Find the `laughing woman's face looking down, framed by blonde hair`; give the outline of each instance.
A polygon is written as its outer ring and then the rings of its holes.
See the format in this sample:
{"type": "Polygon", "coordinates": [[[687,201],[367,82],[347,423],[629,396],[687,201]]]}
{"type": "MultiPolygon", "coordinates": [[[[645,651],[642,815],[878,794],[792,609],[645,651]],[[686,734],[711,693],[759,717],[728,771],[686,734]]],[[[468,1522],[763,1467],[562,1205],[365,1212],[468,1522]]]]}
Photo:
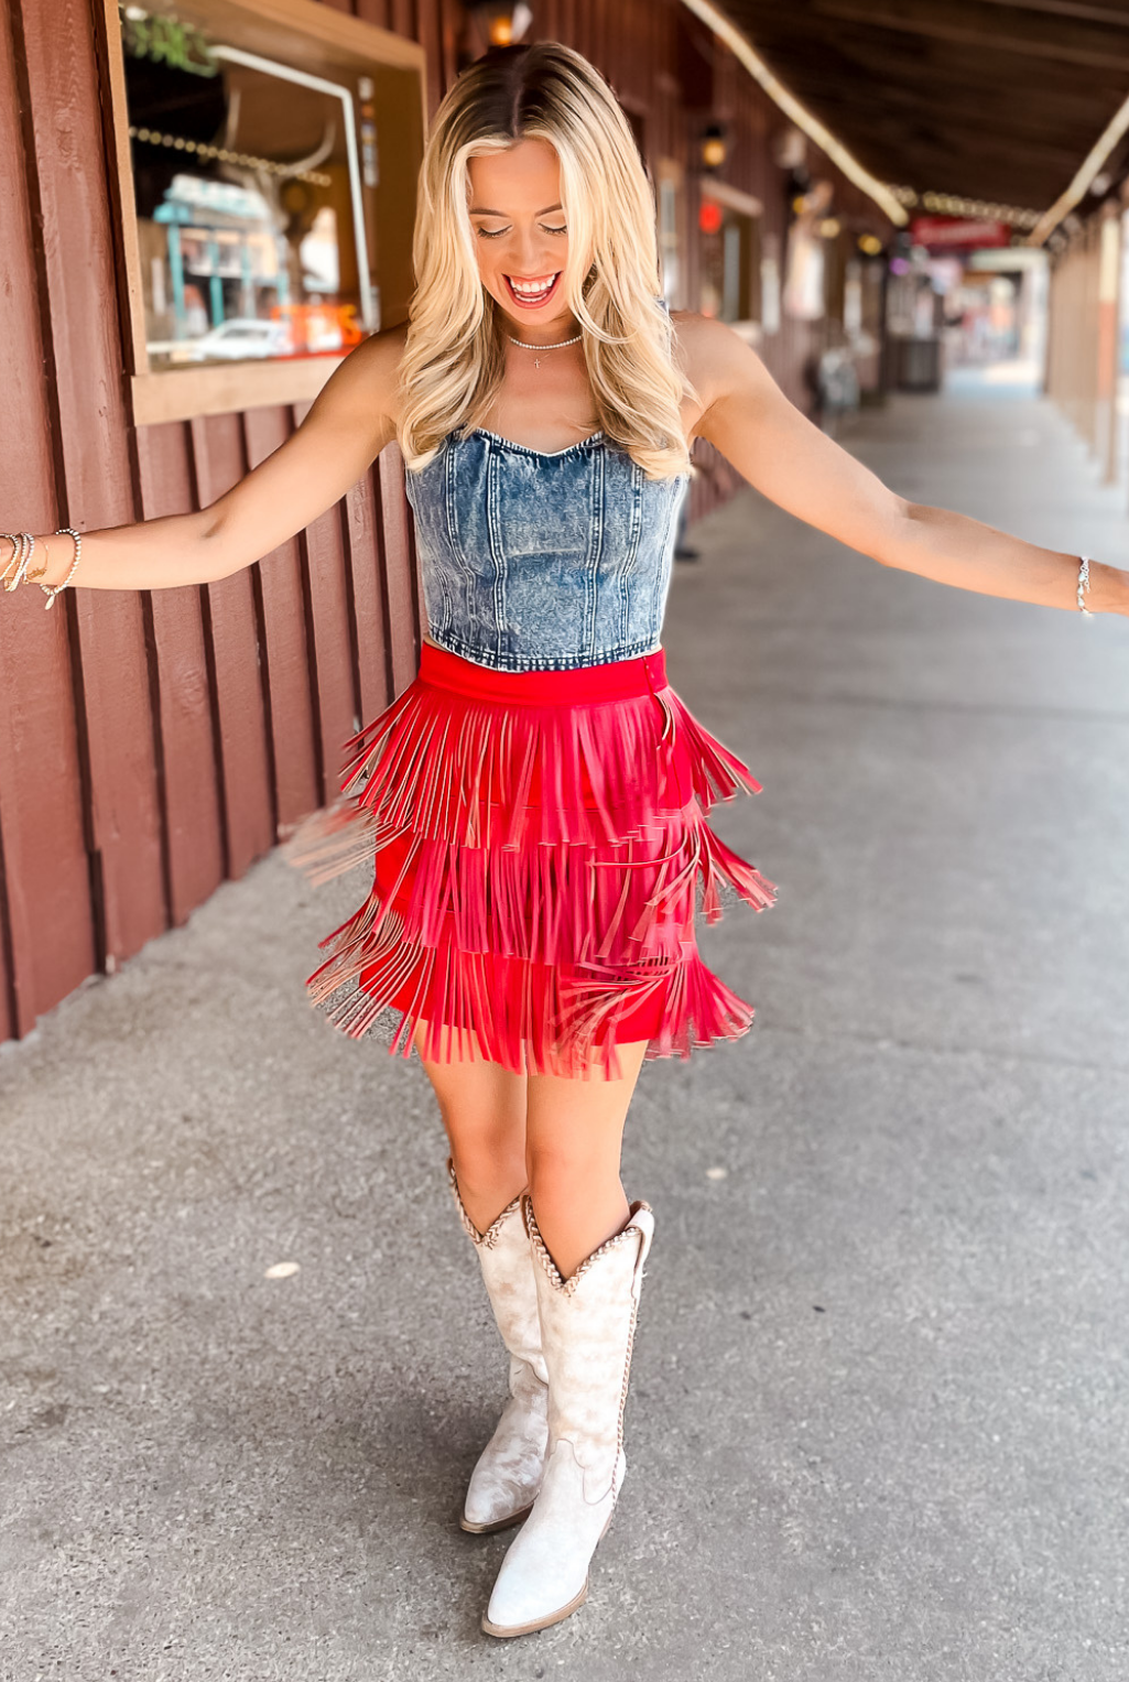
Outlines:
{"type": "Polygon", "coordinates": [[[547,140],[517,140],[468,163],[469,219],[483,286],[520,338],[567,338],[574,316],[560,296],[569,230],[560,160],[547,140]]]}

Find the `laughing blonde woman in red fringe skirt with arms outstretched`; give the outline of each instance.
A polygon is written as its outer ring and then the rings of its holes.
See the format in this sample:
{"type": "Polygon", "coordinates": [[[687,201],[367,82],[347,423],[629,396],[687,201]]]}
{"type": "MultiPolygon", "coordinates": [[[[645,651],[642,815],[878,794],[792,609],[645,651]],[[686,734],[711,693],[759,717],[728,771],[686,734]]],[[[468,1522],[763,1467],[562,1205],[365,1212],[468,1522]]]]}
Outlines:
{"type": "Polygon", "coordinates": [[[602,76],[555,42],[473,64],[427,145],[411,320],[360,345],[303,427],[210,508],[10,538],[54,594],[227,577],[335,503],[392,439],[429,632],[417,680],[347,745],[340,802],[291,843],[372,861],[315,1002],[392,1021],[424,1061],[458,1213],[510,1352],[463,1526],[520,1524],[483,1626],[565,1618],[624,1478],[623,1410],[653,1216],[619,1179],[646,1056],[747,1031],[697,950],[727,883],[774,890],[705,816],[755,791],[668,686],[660,646],[690,446],[887,567],[1085,612],[1126,575],[905,503],[782,397],[727,326],[661,299],[655,205],[602,76]],[[77,567],[76,567],[77,562],[77,567]]]}

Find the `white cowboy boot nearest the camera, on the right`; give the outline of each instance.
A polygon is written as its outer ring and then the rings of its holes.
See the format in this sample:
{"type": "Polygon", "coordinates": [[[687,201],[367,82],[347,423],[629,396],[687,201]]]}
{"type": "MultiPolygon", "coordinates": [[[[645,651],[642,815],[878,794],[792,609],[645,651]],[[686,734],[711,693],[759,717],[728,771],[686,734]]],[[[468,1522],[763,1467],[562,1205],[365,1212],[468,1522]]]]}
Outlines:
{"type": "Polygon", "coordinates": [[[510,1544],[483,1618],[488,1635],[560,1623],[587,1598],[587,1568],[623,1485],[623,1411],[643,1263],[655,1216],[633,1203],[628,1224],[562,1278],[522,1198],[537,1267],[549,1366],[545,1480],[510,1544]]]}

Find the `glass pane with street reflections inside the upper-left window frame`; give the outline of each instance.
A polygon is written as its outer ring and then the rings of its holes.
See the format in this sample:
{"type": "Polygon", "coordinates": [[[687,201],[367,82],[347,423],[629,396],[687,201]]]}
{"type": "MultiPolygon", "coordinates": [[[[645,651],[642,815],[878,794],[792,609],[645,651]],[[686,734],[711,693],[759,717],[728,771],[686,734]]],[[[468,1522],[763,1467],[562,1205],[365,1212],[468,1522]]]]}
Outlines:
{"type": "Polygon", "coordinates": [[[379,328],[372,82],[249,54],[222,10],[119,8],[153,368],[340,355],[379,328]]]}

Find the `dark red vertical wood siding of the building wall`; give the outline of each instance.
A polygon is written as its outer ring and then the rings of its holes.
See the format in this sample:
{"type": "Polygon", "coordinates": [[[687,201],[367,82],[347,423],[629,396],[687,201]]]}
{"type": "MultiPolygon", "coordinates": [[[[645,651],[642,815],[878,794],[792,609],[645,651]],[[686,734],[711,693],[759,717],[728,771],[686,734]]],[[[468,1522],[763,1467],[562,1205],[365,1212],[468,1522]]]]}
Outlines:
{"type": "MultiPolygon", "coordinates": [[[[419,40],[434,113],[463,50],[461,0],[323,0],[419,40]]],[[[0,12],[0,515],[114,526],[212,503],[308,405],[133,429],[104,133],[104,42],[91,0],[0,12]]],[[[584,52],[641,118],[651,165],[681,161],[695,286],[695,146],[707,111],[678,94],[690,37],[732,124],[725,178],[782,234],[769,160],[777,113],[676,0],[535,0],[530,39],[584,52]]],[[[830,172],[835,173],[835,172],[830,172]]],[[[840,182],[848,214],[863,200],[840,182]]],[[[872,225],[882,232],[877,212],[872,225]]],[[[764,357],[803,397],[811,328],[764,357]]],[[[739,486],[712,466],[705,513],[739,486]]],[[[402,459],[390,444],[347,498],[246,572],[200,589],[35,590],[0,607],[0,1039],[25,1034],[86,976],[183,923],[337,791],[343,740],[414,676],[421,589],[402,459]]]]}

